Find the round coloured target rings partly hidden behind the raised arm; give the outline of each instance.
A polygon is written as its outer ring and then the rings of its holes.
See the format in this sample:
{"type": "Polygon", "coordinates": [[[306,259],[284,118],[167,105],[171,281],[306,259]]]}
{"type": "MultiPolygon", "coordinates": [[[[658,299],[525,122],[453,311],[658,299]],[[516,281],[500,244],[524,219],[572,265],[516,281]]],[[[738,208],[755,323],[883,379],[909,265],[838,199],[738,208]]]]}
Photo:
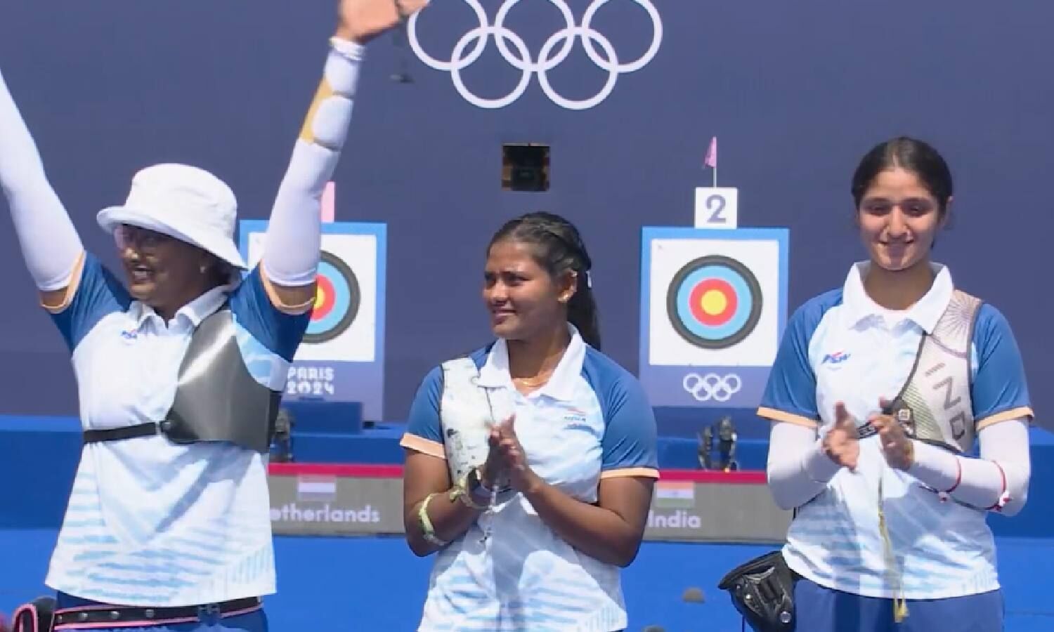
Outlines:
{"type": "Polygon", "coordinates": [[[345,332],[358,315],[362,292],[355,273],[326,251],[318,262],[317,295],[304,342],[318,344],[345,332]]]}

